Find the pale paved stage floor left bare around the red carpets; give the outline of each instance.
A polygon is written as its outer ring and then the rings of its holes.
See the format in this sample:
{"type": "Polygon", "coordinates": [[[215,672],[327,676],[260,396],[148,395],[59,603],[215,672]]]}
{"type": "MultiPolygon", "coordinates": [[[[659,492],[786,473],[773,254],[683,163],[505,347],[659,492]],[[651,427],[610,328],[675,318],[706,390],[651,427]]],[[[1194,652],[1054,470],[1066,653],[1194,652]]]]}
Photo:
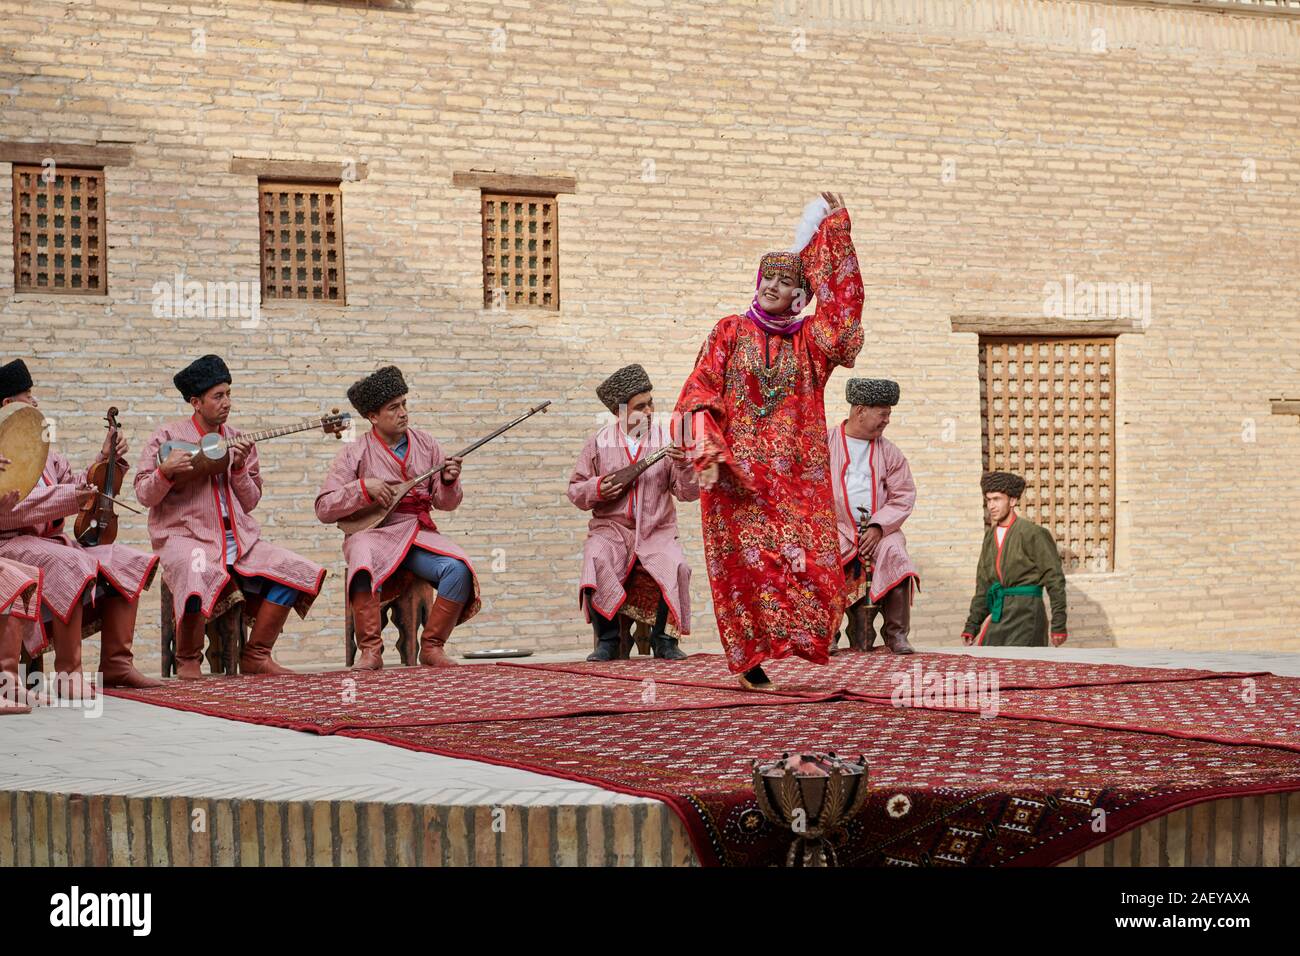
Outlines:
{"type": "MultiPolygon", "coordinates": [[[[962,653],[965,648],[923,648],[962,653]]],[[[878,652],[883,653],[883,652],[878,652]]],[[[1114,648],[975,648],[982,657],[1264,670],[1300,676],[1300,654],[1114,648]]],[[[541,656],[534,659],[562,659],[541,656]]],[[[103,717],[38,709],[0,719],[0,791],[352,800],[450,805],[654,803],[572,780],[109,698],[103,717]]]]}

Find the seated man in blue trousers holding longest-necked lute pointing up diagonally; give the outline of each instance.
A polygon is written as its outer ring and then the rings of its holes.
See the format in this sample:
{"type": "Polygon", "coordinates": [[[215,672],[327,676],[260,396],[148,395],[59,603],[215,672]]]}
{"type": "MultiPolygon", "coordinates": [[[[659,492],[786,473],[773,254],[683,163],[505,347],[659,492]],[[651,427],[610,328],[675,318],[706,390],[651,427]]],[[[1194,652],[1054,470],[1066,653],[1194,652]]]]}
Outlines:
{"type": "Polygon", "coordinates": [[[438,533],[429,510],[454,511],[460,505],[462,462],[446,458],[428,432],[410,427],[407,384],[396,365],[355,382],[347,399],[370,423],[370,431],[334,458],[316,498],[321,522],[338,522],[376,503],[387,507],[400,484],[447,462],[441,475],[407,492],[381,524],[343,538],[348,604],[360,650],[354,670],[384,666],[380,589],[398,568],[430,581],[438,592],[420,636],[420,663],[455,666],[445,648],[452,628],[478,613],[478,578],[469,557],[438,533]]]}

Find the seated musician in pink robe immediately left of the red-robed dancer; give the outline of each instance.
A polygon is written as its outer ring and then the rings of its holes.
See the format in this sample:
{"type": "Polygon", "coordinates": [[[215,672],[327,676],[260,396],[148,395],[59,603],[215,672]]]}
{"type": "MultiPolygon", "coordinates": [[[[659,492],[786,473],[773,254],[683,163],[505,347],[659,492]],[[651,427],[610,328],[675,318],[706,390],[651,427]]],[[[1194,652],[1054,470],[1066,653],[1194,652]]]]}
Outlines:
{"type": "Polygon", "coordinates": [[[686,453],[654,418],[651,392],[641,365],[597,388],[615,420],[588,438],[569,477],[569,501],[592,512],[578,581],[578,604],[597,636],[588,661],[619,656],[619,614],[651,624],[655,657],[686,657],[676,635],[690,633],[690,566],[673,498],[697,501],[699,485],[686,453]]]}

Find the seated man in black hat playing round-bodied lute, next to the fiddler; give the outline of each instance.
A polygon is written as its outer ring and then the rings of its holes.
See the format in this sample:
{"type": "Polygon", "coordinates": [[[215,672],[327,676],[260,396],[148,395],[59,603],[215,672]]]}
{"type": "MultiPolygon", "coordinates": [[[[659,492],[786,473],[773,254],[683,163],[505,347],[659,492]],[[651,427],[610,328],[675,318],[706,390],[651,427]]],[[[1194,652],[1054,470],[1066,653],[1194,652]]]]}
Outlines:
{"type": "Polygon", "coordinates": [[[170,421],[150,436],[135,473],[135,497],[150,510],[150,540],[162,561],[176,615],[177,676],[202,676],[203,636],[208,618],[234,579],[246,597],[252,631],[239,670],[244,674],[292,674],[270,657],[289,613],[306,618],[320,594],[325,568],[286,548],[263,540],[252,510],[261,501],[257,446],[239,441],[228,425],[231,377],[217,355],[204,355],[172,378],[190,403],[187,419],[170,421]],[[192,455],[174,449],[159,462],[164,442],[198,444],[216,432],[229,440],[225,471],[194,477],[192,455]]]}

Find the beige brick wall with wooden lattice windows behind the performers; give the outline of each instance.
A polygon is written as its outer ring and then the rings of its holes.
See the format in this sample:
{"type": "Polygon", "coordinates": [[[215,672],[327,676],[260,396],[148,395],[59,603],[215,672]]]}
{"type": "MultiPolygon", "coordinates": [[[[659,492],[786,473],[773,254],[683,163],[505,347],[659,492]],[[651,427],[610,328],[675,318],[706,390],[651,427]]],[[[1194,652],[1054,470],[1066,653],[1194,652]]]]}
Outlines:
{"type": "MultiPolygon", "coordinates": [[[[748,303],[757,256],[831,187],[867,287],[858,369],[902,382],[889,434],[920,493],[918,640],[957,639],[980,540],[978,347],[950,317],[1040,315],[1044,284],[1072,274],[1152,286],[1149,328],[1118,346],[1118,570],[1071,578],[1074,640],[1300,650],[1300,419],[1269,402],[1300,397],[1297,21],[948,9],[0,0],[0,138],[134,151],[108,173],[107,299],[14,297],[0,229],[3,352],[32,365],[75,460],[109,403],[136,450],[179,415],[170,376],[203,351],[231,364],[246,427],[344,405],[384,362],[450,446],[554,399],[471,459],[442,527],[482,576],[458,644],[576,650],[585,522],[564,485],[598,423],[594,385],[640,360],[671,407],[708,328],[748,303]],[[256,278],[256,179],[233,156],[368,165],[343,186],[346,308],[265,306],[256,329],[153,317],[152,286],[177,269],[256,278]],[[451,186],[471,168],[577,178],[560,312],[480,308],[478,196],[451,186]]],[[[295,437],[263,453],[265,533],[332,570],[290,626],[290,663],[339,659],[339,535],[311,507],[334,450],[295,437]]],[[[681,525],[693,644],[712,648],[696,507],[681,525]]],[[[147,546],[140,519],[122,527],[147,546]]],[[[146,609],[152,656],[155,594],[146,609]]]]}

